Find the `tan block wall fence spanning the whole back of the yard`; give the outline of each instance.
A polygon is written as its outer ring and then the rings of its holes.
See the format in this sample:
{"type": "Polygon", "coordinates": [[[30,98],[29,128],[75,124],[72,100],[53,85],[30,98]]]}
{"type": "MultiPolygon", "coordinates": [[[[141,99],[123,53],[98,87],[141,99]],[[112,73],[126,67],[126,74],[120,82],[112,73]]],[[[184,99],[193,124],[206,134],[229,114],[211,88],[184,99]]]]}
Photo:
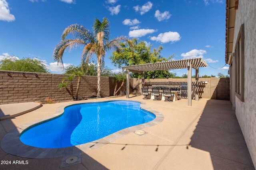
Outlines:
{"type": "MultiPolygon", "coordinates": [[[[0,70],[0,104],[22,102],[44,102],[49,97],[55,102],[72,100],[64,88],[60,89],[58,83],[65,78],[63,74],[16,72],[0,70]]],[[[72,81],[74,92],[77,78],[72,81]]],[[[208,80],[207,84],[200,85],[200,97],[220,100],[229,100],[229,78],[201,78],[208,80]]],[[[152,79],[152,82],[185,82],[184,79],[152,79]]],[[[194,81],[192,79],[192,81],[194,81]]],[[[130,79],[130,92],[141,94],[141,79],[130,79]]],[[[119,85],[120,86],[120,85],[119,85]]],[[[119,87],[118,86],[118,87],[119,87]]],[[[101,96],[113,96],[115,82],[111,77],[101,77],[101,96]]],[[[120,94],[126,92],[126,84],[120,89],[120,94]]],[[[82,76],[78,98],[92,98],[97,95],[97,76],[82,76]]]]}

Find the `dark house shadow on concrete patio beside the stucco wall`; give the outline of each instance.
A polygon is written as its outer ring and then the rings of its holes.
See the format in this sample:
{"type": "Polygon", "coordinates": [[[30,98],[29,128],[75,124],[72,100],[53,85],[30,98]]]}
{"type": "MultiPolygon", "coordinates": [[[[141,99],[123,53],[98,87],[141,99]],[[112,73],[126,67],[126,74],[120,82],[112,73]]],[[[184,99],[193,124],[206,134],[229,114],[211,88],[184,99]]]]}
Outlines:
{"type": "Polygon", "coordinates": [[[229,101],[208,100],[190,145],[209,152],[215,170],[254,170],[229,101]]]}

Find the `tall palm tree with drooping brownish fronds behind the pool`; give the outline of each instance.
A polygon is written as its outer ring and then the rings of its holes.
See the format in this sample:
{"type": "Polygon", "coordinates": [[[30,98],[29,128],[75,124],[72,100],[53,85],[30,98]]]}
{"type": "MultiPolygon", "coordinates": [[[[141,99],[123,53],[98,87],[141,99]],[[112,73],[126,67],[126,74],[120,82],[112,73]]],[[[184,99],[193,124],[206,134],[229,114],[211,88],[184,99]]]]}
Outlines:
{"type": "Polygon", "coordinates": [[[88,61],[91,59],[92,55],[96,55],[98,76],[97,97],[100,98],[100,76],[102,62],[107,51],[110,49],[119,49],[118,42],[122,40],[126,40],[130,45],[132,45],[130,40],[126,37],[118,37],[112,40],[109,39],[109,21],[107,18],[103,18],[102,22],[96,18],[93,25],[93,32],[84,28],[82,25],[70,25],[63,31],[62,41],[56,45],[53,59],[54,61],[61,63],[63,66],[62,57],[66,48],[69,47],[71,50],[79,45],[84,45],[81,56],[81,68],[86,74],[88,71],[88,61]],[[66,39],[69,34],[72,34],[75,38],[66,39]]]}

